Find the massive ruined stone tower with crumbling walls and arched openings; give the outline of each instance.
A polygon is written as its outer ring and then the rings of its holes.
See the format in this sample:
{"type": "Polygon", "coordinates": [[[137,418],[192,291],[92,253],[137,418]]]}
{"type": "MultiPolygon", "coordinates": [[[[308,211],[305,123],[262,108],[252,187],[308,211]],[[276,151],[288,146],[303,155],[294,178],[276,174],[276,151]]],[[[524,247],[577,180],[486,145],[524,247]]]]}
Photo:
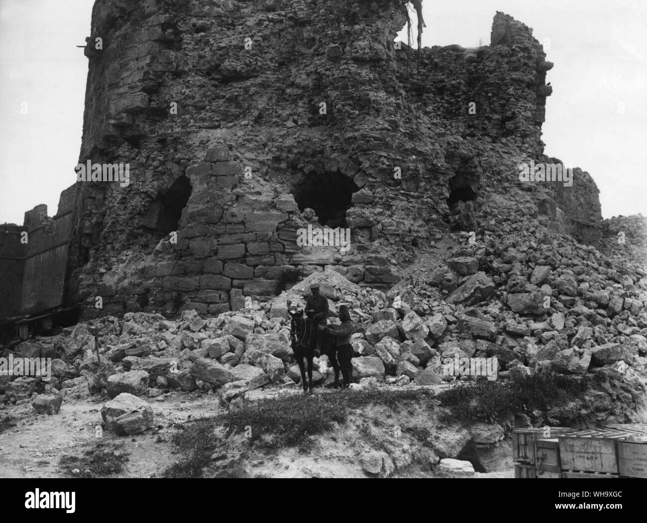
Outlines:
{"type": "MultiPolygon", "coordinates": [[[[549,161],[552,64],[531,29],[498,13],[491,45],[418,63],[394,44],[407,9],[96,0],[79,163],[127,164],[129,183],[76,183],[66,302],[214,314],[328,266],[386,288],[456,203],[549,161]],[[298,245],[308,225],[349,228],[350,249],[298,245]]],[[[597,188],[581,170],[574,188],[546,189],[544,212],[586,234],[597,188]]]]}

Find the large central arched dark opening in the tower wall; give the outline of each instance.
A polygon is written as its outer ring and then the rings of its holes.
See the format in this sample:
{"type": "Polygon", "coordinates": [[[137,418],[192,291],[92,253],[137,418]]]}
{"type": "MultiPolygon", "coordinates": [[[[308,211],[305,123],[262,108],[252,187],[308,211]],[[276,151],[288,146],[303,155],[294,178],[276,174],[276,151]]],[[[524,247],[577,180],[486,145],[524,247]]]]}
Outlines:
{"type": "Polygon", "coordinates": [[[314,210],[320,225],[345,228],[346,211],[353,205],[353,193],[358,190],[353,179],[339,172],[310,172],[292,194],[301,212],[307,208],[314,210]]]}

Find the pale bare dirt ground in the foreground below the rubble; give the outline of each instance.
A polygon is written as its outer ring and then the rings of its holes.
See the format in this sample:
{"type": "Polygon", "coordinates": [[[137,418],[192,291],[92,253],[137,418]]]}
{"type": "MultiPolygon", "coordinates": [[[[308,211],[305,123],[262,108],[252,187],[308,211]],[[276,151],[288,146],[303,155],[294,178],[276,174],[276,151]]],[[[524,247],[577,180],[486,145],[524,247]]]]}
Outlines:
{"type": "MultiPolygon", "coordinates": [[[[63,477],[65,472],[58,465],[60,458],[81,456],[93,449],[99,440],[111,447],[123,445],[120,452],[128,455],[124,470],[116,477],[160,477],[164,469],[181,457],[175,454],[171,444],[175,424],[223,412],[215,395],[172,392],[159,398],[147,398],[155,412],[152,430],[137,436],[116,436],[102,430],[101,438],[97,438],[96,427],[102,423],[101,408],[105,401],[87,397],[83,392],[77,392],[75,397],[71,392],[63,401],[60,413],[54,416],[36,414],[30,403],[0,411],[1,417],[8,415],[16,423],[15,427],[0,434],[0,478],[63,477]]],[[[272,454],[252,452],[245,461],[245,469],[251,477],[366,478],[358,463],[359,452],[366,448],[359,430],[360,420],[378,415],[378,410],[371,407],[357,411],[343,427],[336,426],[325,435],[317,436],[309,452],[290,448],[272,454]]],[[[397,423],[397,417],[389,423],[397,423]]],[[[394,476],[429,477],[429,474],[412,467],[396,471],[394,476]]],[[[514,478],[514,469],[476,473],[472,477],[514,478]]]]}

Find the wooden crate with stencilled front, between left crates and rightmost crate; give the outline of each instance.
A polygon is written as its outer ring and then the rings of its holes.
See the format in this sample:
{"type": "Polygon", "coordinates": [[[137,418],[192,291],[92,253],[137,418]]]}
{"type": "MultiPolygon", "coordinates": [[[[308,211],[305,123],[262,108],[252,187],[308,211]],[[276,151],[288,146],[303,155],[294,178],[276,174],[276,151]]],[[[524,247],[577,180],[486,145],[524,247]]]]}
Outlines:
{"type": "Polygon", "coordinates": [[[614,429],[559,436],[562,469],[619,474],[616,441],[630,436],[614,429]]]}

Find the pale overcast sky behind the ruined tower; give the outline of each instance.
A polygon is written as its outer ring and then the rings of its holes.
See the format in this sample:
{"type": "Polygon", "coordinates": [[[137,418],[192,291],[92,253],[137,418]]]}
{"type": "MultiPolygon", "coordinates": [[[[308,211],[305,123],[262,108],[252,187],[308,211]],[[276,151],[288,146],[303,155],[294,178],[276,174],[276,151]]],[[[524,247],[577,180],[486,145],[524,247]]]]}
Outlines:
{"type": "MultiPolygon", "coordinates": [[[[93,0],[0,0],[0,223],[56,213],[81,146],[93,0]],[[22,114],[27,104],[27,114],[22,114]]],[[[647,216],[644,0],[423,0],[422,45],[487,45],[503,11],[547,43],[555,67],[545,153],[591,173],[602,216],[647,216]]],[[[405,32],[402,38],[406,39],[405,32]]],[[[546,45],[545,47],[548,47],[546,45]]]]}

